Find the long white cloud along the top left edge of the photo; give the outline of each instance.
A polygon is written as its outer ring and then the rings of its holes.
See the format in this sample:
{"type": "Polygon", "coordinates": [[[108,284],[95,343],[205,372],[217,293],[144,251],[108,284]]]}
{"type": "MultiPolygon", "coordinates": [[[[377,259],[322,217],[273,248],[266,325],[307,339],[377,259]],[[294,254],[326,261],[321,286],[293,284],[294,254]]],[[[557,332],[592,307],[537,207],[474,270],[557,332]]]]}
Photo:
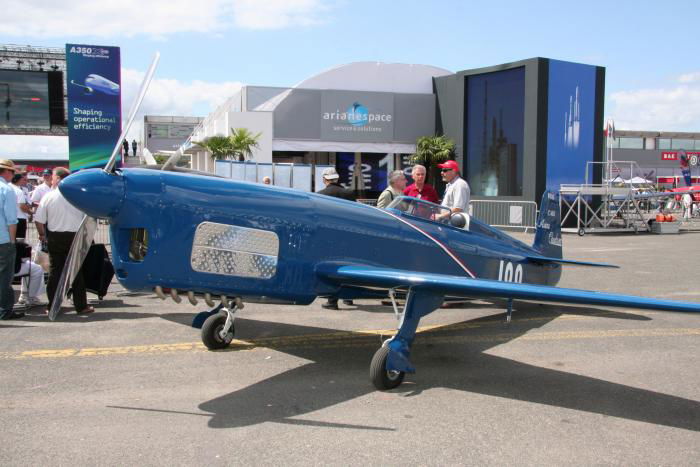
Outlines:
{"type": "Polygon", "coordinates": [[[162,38],[233,26],[279,29],[322,20],[322,0],[6,0],[0,34],[14,37],[162,38]]]}

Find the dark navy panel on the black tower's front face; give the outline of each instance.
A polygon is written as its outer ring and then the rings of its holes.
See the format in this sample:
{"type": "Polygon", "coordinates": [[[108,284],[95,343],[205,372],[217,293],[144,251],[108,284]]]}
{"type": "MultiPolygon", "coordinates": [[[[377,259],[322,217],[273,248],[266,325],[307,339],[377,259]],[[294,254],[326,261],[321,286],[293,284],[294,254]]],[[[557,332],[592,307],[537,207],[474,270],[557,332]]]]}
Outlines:
{"type": "Polygon", "coordinates": [[[465,99],[465,175],[472,194],[521,196],[525,68],[469,76],[465,99]]]}

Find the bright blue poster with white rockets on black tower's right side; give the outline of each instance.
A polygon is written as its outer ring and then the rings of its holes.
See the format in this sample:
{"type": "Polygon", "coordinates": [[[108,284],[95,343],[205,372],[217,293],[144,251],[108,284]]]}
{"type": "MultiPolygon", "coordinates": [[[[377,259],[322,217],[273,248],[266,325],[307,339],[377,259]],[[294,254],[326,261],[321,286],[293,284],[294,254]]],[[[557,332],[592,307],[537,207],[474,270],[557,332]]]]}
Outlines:
{"type": "Polygon", "coordinates": [[[594,159],[595,83],[594,66],[549,62],[548,189],[584,182],[586,162],[594,159]]]}

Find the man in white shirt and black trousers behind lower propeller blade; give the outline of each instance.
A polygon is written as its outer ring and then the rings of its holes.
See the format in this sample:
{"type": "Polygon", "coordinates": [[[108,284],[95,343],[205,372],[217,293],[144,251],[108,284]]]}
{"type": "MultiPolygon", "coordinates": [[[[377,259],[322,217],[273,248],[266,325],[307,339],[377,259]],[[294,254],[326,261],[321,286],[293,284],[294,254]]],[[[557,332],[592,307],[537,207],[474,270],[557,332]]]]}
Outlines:
{"type": "MultiPolygon", "coordinates": [[[[53,171],[53,186],[58,187],[61,180],[69,175],[70,171],[65,167],[56,167],[53,171]]],[[[51,266],[49,268],[49,283],[46,287],[49,310],[56,295],[63,267],[68,259],[71,243],[73,243],[73,238],[82,220],[83,213],[70,204],[58,189],[51,190],[48,195],[44,196],[34,215],[39,240],[42,243],[47,242],[49,249],[51,266]]],[[[73,281],[73,304],[78,314],[95,311],[87,303],[82,268],[73,281]]]]}

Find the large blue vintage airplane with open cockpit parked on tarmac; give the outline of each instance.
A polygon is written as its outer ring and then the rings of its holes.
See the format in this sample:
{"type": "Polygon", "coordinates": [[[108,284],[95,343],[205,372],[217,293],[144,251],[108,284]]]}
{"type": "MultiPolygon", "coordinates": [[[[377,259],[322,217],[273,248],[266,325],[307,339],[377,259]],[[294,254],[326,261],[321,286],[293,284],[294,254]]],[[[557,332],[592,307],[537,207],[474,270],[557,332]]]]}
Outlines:
{"type": "Polygon", "coordinates": [[[59,189],[87,216],[109,220],[112,261],[125,288],[162,298],[169,289],[175,301],[186,294],[192,304],[221,300],[202,326],[210,349],[233,340],[244,302],[389,295],[396,308],[396,293],[405,293],[398,331],[370,365],[380,390],[415,371],[410,351],[420,319],[446,297],[506,299],[508,317],[513,300],[700,311],[700,303],[555,287],[564,265],[614,266],[562,258],[559,200],[551,192],[542,198],[534,243],[526,245],[416,198],[378,209],[178,168],[84,170],[59,189]]]}

